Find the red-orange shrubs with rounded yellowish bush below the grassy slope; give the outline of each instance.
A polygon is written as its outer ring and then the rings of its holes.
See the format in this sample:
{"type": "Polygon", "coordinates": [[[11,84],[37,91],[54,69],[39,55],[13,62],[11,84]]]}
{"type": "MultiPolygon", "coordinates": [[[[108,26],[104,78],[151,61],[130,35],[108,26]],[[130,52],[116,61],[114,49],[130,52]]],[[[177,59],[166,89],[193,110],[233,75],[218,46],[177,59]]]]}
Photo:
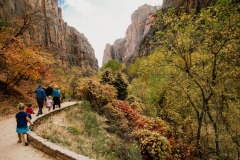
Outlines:
{"type": "Polygon", "coordinates": [[[175,139],[170,126],[161,119],[141,115],[124,101],[113,100],[114,107],[134,124],[133,134],[140,143],[144,157],[159,157],[171,155],[175,139]],[[163,148],[161,148],[164,146],[163,148]]]}

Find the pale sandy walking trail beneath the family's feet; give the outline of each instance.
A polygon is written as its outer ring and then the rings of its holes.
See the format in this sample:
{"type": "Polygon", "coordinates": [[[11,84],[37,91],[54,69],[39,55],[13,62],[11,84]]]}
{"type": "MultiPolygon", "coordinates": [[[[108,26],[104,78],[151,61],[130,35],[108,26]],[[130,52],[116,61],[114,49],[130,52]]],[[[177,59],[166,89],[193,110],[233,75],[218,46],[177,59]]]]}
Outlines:
{"type": "MultiPolygon", "coordinates": [[[[76,102],[64,102],[61,107],[76,104],[76,102]]],[[[46,113],[46,108],[44,107],[46,113]]],[[[37,111],[35,111],[36,113],[37,111]]],[[[33,119],[36,118],[34,114],[33,119]]],[[[49,155],[33,148],[31,144],[24,146],[17,143],[15,115],[0,121],[0,160],[54,160],[49,155]]]]}

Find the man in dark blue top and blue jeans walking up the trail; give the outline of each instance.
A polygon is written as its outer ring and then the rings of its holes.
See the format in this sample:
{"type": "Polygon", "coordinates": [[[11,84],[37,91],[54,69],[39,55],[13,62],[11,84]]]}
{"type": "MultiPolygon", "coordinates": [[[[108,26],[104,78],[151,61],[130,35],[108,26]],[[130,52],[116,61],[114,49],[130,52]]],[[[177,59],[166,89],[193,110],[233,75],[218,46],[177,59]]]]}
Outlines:
{"type": "Polygon", "coordinates": [[[46,101],[46,93],[44,89],[41,87],[41,85],[38,86],[38,88],[35,90],[35,93],[36,93],[36,99],[38,103],[38,113],[36,116],[39,116],[43,114],[42,109],[43,109],[44,101],[46,101]]]}

